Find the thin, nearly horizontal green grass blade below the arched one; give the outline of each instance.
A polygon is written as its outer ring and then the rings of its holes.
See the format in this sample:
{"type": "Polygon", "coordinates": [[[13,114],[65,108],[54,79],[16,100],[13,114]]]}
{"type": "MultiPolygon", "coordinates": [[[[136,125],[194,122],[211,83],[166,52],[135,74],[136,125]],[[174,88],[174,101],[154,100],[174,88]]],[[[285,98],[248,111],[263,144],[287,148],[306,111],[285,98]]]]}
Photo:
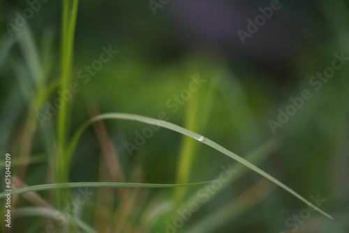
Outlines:
{"type": "MultiPolygon", "coordinates": [[[[101,187],[121,187],[121,188],[173,188],[180,186],[197,186],[214,181],[202,181],[196,183],[114,183],[114,182],[75,182],[75,183],[48,183],[37,186],[27,186],[17,188],[10,192],[11,195],[36,192],[42,190],[64,189],[64,188],[101,188],[101,187]]],[[[5,197],[6,192],[0,193],[0,199],[5,197]]]]}

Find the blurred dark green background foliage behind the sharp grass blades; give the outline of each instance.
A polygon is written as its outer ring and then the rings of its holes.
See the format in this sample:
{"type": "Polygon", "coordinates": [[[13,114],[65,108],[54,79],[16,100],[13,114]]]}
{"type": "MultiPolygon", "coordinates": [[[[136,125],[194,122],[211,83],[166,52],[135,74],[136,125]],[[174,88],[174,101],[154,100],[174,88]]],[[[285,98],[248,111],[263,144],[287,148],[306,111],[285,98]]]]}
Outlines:
{"type": "MultiPolygon", "coordinates": [[[[311,212],[296,229],[292,223],[297,221],[288,219],[306,206],[242,166],[237,167],[239,179],[219,189],[175,229],[168,228],[167,221],[173,224],[177,209],[184,209],[184,200],[201,187],[129,189],[126,194],[122,189],[117,189],[121,194],[112,188],[91,189],[96,195],[75,211],[78,218],[96,232],[348,232],[349,62],[343,60],[318,90],[311,79],[332,66],[335,53],[349,57],[349,1],[280,1],[280,8],[243,44],[237,31],[247,31],[246,20],[254,20],[261,14],[258,8],[270,7],[271,2],[80,1],[72,74],[80,89],[69,101],[69,133],[98,112],[156,119],[165,112],[168,121],[250,160],[303,197],[320,195],[326,200],[321,209],[336,221],[311,212]],[[84,83],[79,71],[100,59],[102,47],[110,46],[117,54],[84,83]],[[188,100],[182,98],[183,105],[173,111],[169,101],[174,103],[174,95],[188,89],[193,75],[207,82],[188,100]],[[292,104],[290,98],[302,96],[304,89],[312,98],[273,132],[269,120],[278,121],[279,108],[285,111],[292,104]],[[254,157],[248,157],[251,154],[254,157]]],[[[40,2],[27,23],[10,33],[8,23],[15,25],[16,13],[23,14],[30,4],[0,4],[0,158],[11,153],[16,160],[21,149],[29,148],[32,159],[22,182],[52,183],[57,116],[40,126],[38,112],[34,118],[29,112],[38,73],[47,75],[45,88],[52,90],[39,112],[45,113],[47,101],[59,98],[62,3],[40,2]],[[26,133],[26,126],[35,124],[28,119],[37,121],[32,133],[26,133]]],[[[131,155],[126,142],[135,144],[135,133],[145,127],[121,120],[89,127],[77,144],[70,181],[113,181],[105,162],[105,151],[111,147],[124,180],[131,182],[205,181],[215,179],[222,165],[237,165],[164,128],[131,155]]],[[[13,165],[13,177],[20,170],[13,165]]],[[[39,195],[52,202],[52,193],[39,195]]],[[[29,200],[19,197],[15,207],[38,204],[29,200]]],[[[12,232],[45,232],[47,224],[59,225],[47,216],[18,213],[12,232]]],[[[0,229],[6,230],[3,225],[0,229]]]]}

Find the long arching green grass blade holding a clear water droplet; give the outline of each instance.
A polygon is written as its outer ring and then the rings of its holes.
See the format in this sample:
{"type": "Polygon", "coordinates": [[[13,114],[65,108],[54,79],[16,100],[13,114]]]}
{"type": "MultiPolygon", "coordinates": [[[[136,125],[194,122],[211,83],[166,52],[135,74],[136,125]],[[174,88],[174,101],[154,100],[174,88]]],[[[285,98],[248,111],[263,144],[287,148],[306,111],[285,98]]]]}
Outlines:
{"type": "MultiPolygon", "coordinates": [[[[143,116],[136,115],[136,114],[105,113],[105,114],[98,115],[96,117],[92,117],[91,119],[89,119],[89,121],[86,121],[85,123],[82,124],[82,126],[80,126],[80,128],[77,129],[75,135],[73,136],[72,141],[70,142],[70,145],[68,146],[67,158],[71,158],[71,156],[73,154],[73,151],[75,149],[75,146],[76,146],[80,136],[84,132],[84,130],[92,122],[100,121],[102,119],[124,119],[124,120],[129,120],[129,121],[140,121],[140,122],[149,123],[149,124],[152,124],[152,125],[155,125],[155,126],[161,126],[163,128],[168,128],[168,129],[176,131],[178,133],[187,135],[188,137],[193,137],[193,139],[195,139],[195,136],[198,135],[198,134],[192,132],[191,130],[187,130],[186,128],[182,128],[180,126],[175,125],[174,123],[170,123],[170,122],[167,122],[167,121],[161,121],[161,120],[153,119],[153,118],[150,118],[150,117],[143,117],[143,116]]],[[[281,183],[281,181],[275,179],[273,176],[267,174],[267,172],[264,172],[263,170],[261,170],[259,167],[256,167],[255,165],[253,165],[252,163],[248,162],[244,158],[242,158],[240,156],[237,156],[237,154],[232,153],[232,151],[229,151],[228,149],[225,149],[223,146],[217,144],[216,142],[213,142],[213,141],[209,140],[206,137],[203,137],[202,140],[200,140],[200,142],[202,142],[204,144],[207,144],[207,146],[211,146],[212,148],[216,149],[217,151],[220,151],[221,153],[224,153],[226,156],[229,156],[230,158],[233,158],[233,159],[237,160],[239,163],[242,163],[246,167],[249,167],[251,170],[253,170],[253,171],[257,172],[258,174],[264,176],[265,178],[269,179],[269,181],[272,181],[277,186],[279,186],[279,187],[283,188],[284,190],[288,191],[288,193],[294,195],[299,200],[301,200],[305,204],[311,206],[313,209],[317,210],[319,213],[322,213],[327,218],[330,218],[330,219],[334,220],[334,218],[332,218],[332,216],[329,216],[328,213],[325,213],[325,211],[322,211],[320,208],[318,208],[318,206],[315,206],[314,204],[312,204],[311,202],[306,200],[304,197],[302,197],[301,195],[296,193],[294,190],[292,190],[288,186],[285,186],[285,184],[281,183]]]]}

